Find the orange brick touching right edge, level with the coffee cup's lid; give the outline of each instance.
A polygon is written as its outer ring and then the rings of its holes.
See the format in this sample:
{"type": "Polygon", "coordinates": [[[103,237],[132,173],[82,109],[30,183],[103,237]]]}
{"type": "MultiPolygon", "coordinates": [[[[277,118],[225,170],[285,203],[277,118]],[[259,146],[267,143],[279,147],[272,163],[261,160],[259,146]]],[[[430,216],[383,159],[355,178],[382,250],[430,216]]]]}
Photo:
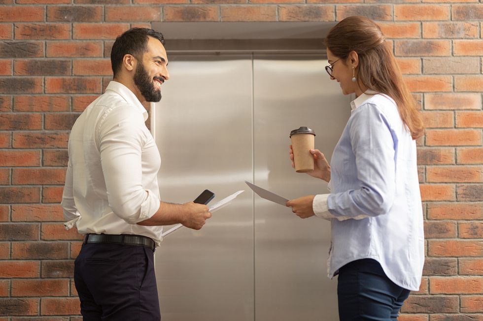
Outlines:
{"type": "Polygon", "coordinates": [[[428,129],[427,146],[482,145],[482,132],[476,129],[428,129]]]}

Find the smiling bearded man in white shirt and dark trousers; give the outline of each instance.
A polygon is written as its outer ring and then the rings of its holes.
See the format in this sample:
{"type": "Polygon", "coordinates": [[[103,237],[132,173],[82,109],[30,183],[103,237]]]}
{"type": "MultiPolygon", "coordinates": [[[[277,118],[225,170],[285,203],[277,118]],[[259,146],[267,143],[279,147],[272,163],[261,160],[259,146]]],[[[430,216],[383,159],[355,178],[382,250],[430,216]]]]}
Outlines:
{"type": "Polygon", "coordinates": [[[160,156],[142,102],[169,79],[161,33],[133,28],[111,52],[114,79],[74,123],[62,206],[85,234],[74,281],[84,320],[160,320],[153,251],[162,225],[199,230],[207,205],[160,201],[160,156]]]}

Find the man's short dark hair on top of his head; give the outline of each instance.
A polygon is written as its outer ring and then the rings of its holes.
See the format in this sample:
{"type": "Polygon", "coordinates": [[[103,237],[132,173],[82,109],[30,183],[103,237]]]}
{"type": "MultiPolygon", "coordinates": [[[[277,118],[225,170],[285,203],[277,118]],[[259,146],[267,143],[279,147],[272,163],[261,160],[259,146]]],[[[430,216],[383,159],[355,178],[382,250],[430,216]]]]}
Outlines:
{"type": "Polygon", "coordinates": [[[164,46],[164,37],[161,32],[148,28],[131,28],[116,38],[111,50],[111,66],[114,77],[121,67],[125,55],[133,55],[140,60],[147,51],[148,37],[158,39],[164,46]]]}

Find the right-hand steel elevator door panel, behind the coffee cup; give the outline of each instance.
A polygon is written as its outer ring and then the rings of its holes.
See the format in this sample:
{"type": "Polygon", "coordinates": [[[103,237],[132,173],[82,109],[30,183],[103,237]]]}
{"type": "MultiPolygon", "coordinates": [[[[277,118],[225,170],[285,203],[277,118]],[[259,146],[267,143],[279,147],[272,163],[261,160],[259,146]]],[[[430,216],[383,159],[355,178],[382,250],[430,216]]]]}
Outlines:
{"type": "MultiPolygon", "coordinates": [[[[330,159],[350,115],[327,60],[255,56],[255,184],[285,198],[327,193],[327,183],[290,166],[289,133],[309,126],[330,159]]],[[[330,223],[302,220],[255,198],[255,320],[338,320],[336,280],[327,278],[330,223]]]]}

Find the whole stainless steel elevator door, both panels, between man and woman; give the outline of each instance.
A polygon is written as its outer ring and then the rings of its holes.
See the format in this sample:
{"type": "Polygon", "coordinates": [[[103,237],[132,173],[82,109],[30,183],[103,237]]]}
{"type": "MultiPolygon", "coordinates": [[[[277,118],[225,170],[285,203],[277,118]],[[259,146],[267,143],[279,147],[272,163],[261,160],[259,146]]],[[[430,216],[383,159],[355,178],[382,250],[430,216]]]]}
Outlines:
{"type": "MultiPolygon", "coordinates": [[[[164,321],[337,321],[326,260],[329,222],[302,220],[253,195],[253,181],[286,198],[327,192],[290,167],[290,130],[309,126],[330,159],[350,114],[326,60],[286,55],[169,56],[171,79],[155,106],[161,199],[202,190],[213,203],[245,190],[200,231],[181,228],[156,250],[164,321]]],[[[168,227],[169,228],[169,227],[168,227]]],[[[167,229],[168,229],[167,228],[167,229]]]]}

